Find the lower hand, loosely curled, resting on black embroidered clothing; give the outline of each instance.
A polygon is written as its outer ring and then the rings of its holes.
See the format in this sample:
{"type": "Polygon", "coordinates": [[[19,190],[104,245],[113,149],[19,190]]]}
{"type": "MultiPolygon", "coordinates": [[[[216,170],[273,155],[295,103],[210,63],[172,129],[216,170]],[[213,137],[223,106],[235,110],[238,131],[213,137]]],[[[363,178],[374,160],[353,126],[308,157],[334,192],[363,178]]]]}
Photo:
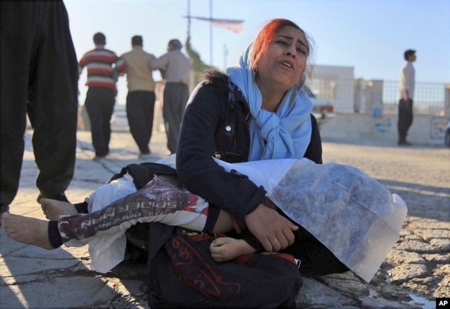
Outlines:
{"type": "Polygon", "coordinates": [[[215,238],[209,249],[211,256],[217,262],[230,261],[237,258],[237,256],[255,252],[255,249],[246,241],[231,237],[215,238]]]}

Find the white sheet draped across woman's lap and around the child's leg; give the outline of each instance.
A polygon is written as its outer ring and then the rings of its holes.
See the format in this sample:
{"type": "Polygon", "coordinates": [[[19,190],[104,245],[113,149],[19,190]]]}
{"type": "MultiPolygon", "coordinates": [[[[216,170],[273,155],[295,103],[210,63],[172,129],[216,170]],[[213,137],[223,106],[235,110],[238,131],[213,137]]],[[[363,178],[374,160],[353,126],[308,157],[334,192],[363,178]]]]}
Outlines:
{"type": "MultiPolygon", "coordinates": [[[[355,167],[333,162],[316,165],[306,158],[235,164],[216,161],[226,171],[235,169],[262,185],[267,196],[289,218],[367,282],[399,239],[406,203],[355,167]]],[[[158,163],[176,168],[175,155],[158,163]]],[[[90,210],[105,207],[134,191],[131,176],[125,175],[93,192],[90,210]]],[[[123,259],[126,228],[66,245],[89,242],[93,269],[107,272],[123,259]]]]}

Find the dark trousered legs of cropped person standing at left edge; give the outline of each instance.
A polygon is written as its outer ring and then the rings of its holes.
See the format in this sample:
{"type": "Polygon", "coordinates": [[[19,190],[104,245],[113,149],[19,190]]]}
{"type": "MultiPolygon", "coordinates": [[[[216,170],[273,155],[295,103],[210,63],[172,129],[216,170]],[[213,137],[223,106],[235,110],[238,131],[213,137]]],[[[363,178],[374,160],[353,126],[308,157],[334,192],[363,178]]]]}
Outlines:
{"type": "Polygon", "coordinates": [[[26,114],[40,198],[67,202],[78,121],[78,65],[62,1],[1,1],[0,214],[19,189],[26,114]]]}

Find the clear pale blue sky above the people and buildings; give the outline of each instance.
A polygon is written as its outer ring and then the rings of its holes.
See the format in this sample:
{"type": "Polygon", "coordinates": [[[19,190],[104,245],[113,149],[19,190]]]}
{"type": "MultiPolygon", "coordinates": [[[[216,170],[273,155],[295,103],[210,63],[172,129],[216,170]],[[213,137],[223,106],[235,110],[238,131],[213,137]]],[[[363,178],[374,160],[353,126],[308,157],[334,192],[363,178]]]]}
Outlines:
{"type": "MultiPolygon", "coordinates": [[[[64,0],[78,59],[103,32],[106,48],[121,55],[131,37],[156,57],[170,39],[186,41],[188,15],[243,20],[240,34],[191,19],[191,45],[202,61],[220,70],[235,64],[242,50],[270,19],[285,18],[314,41],[314,64],[354,68],[354,78],[396,81],[407,49],[416,51],[417,82],[450,82],[449,0],[64,0]]],[[[185,52],[184,48],[182,50],[185,52]]],[[[154,73],[155,80],[161,80],[154,73]]],[[[80,104],[87,88],[80,76],[80,104]]],[[[125,77],[118,82],[118,104],[125,104],[125,77]]]]}

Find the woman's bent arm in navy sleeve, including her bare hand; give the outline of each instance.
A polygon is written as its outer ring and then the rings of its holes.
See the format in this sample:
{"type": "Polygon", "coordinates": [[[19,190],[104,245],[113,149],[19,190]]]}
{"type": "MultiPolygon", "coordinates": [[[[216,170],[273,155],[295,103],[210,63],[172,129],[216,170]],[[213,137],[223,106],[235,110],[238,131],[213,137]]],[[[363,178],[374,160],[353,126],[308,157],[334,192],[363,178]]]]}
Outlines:
{"type": "MultiPolygon", "coordinates": [[[[233,113],[227,87],[224,88],[225,91],[204,82],[192,93],[181,124],[177,172],[192,193],[244,221],[267,251],[278,251],[294,242],[291,231],[298,227],[262,205],[266,194],[263,187],[257,187],[242,174],[226,172],[213,160],[217,136],[231,133],[222,132],[228,130],[228,113],[233,113]]],[[[239,129],[235,133],[243,134],[239,129]]],[[[243,153],[244,161],[248,153],[243,153]]]]}

